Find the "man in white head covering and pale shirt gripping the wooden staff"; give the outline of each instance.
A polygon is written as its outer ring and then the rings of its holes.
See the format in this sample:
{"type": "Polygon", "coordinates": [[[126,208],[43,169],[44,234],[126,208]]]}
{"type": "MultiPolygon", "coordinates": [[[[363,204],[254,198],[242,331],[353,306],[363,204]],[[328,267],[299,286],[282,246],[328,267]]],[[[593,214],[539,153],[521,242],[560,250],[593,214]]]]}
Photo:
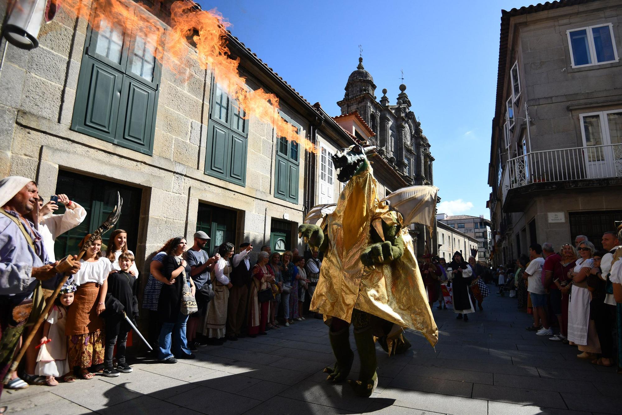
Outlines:
{"type": "MultiPolygon", "coordinates": [[[[39,189],[31,179],[9,176],[0,180],[1,378],[11,365],[26,321],[39,317],[45,305],[40,281],[57,276],[58,261],[49,260],[36,230],[38,201],[39,189]],[[37,315],[31,316],[31,311],[37,315]]],[[[75,262],[69,273],[78,269],[80,263],[75,262]]]]}

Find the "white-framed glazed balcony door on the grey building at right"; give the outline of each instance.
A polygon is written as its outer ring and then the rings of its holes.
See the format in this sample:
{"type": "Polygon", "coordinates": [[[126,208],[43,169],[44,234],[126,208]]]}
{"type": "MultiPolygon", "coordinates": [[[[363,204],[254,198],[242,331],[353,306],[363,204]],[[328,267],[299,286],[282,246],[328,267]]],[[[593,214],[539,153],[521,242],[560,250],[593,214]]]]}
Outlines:
{"type": "Polygon", "coordinates": [[[622,162],[622,110],[580,114],[585,164],[590,178],[618,176],[622,162]]]}

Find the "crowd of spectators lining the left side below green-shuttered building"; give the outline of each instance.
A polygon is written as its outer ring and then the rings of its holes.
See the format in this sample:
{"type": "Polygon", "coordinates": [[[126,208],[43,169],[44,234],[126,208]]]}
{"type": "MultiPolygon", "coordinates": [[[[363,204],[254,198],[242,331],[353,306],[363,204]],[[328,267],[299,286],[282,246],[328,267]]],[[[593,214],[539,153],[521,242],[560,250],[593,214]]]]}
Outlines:
{"type": "Polygon", "coordinates": [[[86,235],[79,245],[86,244],[83,256],[73,257],[67,282],[53,297],[63,277],[55,239],[85,221],[86,210],[65,194],[44,202],[30,179],[0,181],[0,376],[53,302],[24,346],[20,375],[11,373],[6,388],[131,373],[126,343],[139,315],[152,358],[161,363],[193,359],[198,347],[266,335],[305,320],[304,303],[322,265],[317,252],[306,252],[305,260],[297,249],[272,253],[264,245],[253,252],[253,244],[244,242],[236,252],[225,242],[208,254],[210,237],[203,231],[194,234],[192,246],[178,236],[154,252],[142,310],[139,270],[123,229],[109,232],[106,241],[86,235]],[[53,214],[61,206],[63,214],[53,214]]]}

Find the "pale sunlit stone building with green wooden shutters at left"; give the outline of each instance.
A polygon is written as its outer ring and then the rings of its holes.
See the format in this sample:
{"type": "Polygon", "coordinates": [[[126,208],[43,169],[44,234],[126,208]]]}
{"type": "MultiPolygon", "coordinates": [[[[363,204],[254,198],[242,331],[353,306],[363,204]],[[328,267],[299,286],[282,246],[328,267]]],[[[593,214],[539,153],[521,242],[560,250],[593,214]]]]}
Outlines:
{"type": "MultiPolygon", "coordinates": [[[[154,16],[124,2],[169,31],[172,1],[158,3],[154,16]]],[[[2,19],[6,12],[0,9],[2,19]]],[[[84,224],[58,238],[57,254],[77,253],[117,191],[124,199],[118,227],[143,270],[167,239],[190,242],[198,229],[211,236],[210,252],[222,242],[297,246],[304,147],[252,113],[244,118],[197,61],[179,77],[156,59],[167,50],[154,50],[141,32],[103,27],[93,31],[60,7],[42,26],[39,47],[0,43],[0,173],[33,178],[45,199],[66,193],[88,211],[84,224]]],[[[276,94],[281,117],[309,138],[315,108],[238,39],[229,36],[228,45],[248,86],[276,94]]]]}

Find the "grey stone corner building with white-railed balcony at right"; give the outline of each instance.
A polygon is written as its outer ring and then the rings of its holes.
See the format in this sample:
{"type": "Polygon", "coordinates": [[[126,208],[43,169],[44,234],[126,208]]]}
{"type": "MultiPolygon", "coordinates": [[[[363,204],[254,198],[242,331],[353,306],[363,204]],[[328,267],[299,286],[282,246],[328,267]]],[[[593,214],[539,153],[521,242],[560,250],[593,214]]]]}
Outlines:
{"type": "Polygon", "coordinates": [[[497,264],[579,234],[598,247],[622,219],[621,16],[616,0],[501,12],[488,178],[497,264]]]}

